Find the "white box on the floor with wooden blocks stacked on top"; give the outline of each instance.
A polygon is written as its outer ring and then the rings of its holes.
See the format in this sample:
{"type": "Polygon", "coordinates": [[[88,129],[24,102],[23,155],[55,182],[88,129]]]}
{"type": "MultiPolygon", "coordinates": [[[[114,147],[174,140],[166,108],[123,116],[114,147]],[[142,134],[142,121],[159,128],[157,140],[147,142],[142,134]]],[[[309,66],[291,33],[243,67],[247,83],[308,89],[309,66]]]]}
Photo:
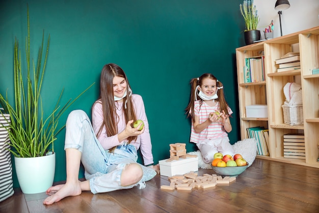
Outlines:
{"type": "Polygon", "coordinates": [[[171,162],[168,159],[159,161],[159,171],[163,176],[183,175],[191,171],[198,171],[198,157],[179,158],[171,162]]]}

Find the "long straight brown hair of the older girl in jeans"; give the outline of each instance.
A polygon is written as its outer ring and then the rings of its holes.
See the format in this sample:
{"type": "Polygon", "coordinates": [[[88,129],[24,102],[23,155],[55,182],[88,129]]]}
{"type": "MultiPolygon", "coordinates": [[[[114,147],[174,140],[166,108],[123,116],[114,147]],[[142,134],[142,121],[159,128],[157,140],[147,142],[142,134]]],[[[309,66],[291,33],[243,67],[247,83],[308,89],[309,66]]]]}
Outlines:
{"type": "MultiPolygon", "coordinates": [[[[116,106],[115,106],[114,91],[113,91],[113,78],[115,76],[125,78],[125,81],[127,84],[127,87],[126,87],[127,94],[126,94],[126,97],[123,98],[123,107],[122,107],[122,110],[124,111],[125,122],[127,123],[129,120],[136,121],[136,114],[135,114],[134,105],[133,105],[134,103],[128,91],[128,88],[130,88],[130,86],[129,86],[126,74],[124,73],[122,68],[116,64],[104,65],[104,67],[102,68],[101,77],[100,77],[100,95],[98,100],[94,102],[94,104],[97,102],[102,103],[102,112],[103,112],[103,123],[98,130],[97,137],[101,134],[103,126],[105,126],[105,129],[107,130],[108,137],[118,134],[117,124],[119,122],[119,117],[116,114],[116,106]],[[126,102],[126,108],[125,108],[125,102],[126,102]]],[[[131,136],[127,138],[128,143],[136,139],[137,139],[137,136],[131,136]]],[[[116,147],[113,147],[109,151],[113,152],[115,148],[116,147]]]]}

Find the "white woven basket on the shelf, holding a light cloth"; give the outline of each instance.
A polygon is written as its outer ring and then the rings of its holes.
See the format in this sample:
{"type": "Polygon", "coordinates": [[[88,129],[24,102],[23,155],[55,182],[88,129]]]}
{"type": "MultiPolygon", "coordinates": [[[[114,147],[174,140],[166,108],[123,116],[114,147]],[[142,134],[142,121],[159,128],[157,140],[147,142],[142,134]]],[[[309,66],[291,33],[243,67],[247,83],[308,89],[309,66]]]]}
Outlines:
{"type": "Polygon", "coordinates": [[[302,105],[282,105],[281,107],[285,124],[299,125],[304,123],[302,105]]]}

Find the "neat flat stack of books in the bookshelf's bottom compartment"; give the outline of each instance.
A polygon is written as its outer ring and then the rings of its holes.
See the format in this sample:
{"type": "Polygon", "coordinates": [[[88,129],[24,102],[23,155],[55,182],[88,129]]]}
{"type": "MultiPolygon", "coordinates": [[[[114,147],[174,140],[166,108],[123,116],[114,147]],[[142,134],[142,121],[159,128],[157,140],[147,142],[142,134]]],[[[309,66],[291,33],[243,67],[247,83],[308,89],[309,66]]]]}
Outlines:
{"type": "Polygon", "coordinates": [[[305,136],[296,133],[283,135],[283,156],[306,159],[305,136]]]}

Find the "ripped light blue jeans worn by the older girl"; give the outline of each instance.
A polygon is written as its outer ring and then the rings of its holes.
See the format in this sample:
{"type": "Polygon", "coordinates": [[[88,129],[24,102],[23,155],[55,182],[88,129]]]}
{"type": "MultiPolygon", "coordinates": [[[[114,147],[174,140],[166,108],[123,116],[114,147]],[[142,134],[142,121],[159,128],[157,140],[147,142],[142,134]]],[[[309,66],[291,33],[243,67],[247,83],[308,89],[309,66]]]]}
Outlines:
{"type": "Polygon", "coordinates": [[[120,180],[124,167],[137,163],[136,147],[124,143],[118,146],[114,153],[104,150],[94,134],[89,117],[82,110],[72,111],[68,116],[64,149],[67,148],[82,152],[81,162],[85,168],[85,178],[90,180],[93,194],[130,189],[138,184],[142,189],[145,188],[144,181],[156,175],[153,169],[140,165],[144,173],[142,179],[137,184],[122,187],[120,180]]]}

